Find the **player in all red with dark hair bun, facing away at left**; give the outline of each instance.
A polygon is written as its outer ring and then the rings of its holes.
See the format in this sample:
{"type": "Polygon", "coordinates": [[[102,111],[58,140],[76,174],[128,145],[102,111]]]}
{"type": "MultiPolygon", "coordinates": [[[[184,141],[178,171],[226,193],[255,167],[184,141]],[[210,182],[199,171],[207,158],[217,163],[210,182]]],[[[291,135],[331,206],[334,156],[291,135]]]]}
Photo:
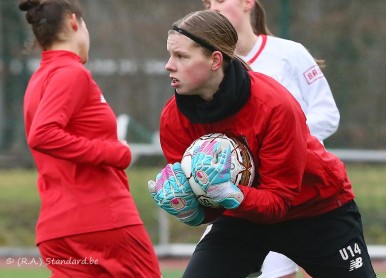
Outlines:
{"type": "Polygon", "coordinates": [[[89,33],[77,0],[23,0],[40,67],[25,93],[38,171],[36,243],[52,277],[161,277],[130,193],[131,152],[84,64],[89,33]]]}

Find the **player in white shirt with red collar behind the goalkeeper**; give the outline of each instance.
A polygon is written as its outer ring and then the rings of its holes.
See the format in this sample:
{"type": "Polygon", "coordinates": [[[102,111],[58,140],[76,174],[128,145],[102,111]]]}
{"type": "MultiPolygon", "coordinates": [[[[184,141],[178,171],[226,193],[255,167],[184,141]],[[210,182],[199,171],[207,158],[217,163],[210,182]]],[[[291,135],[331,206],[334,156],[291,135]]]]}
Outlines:
{"type": "MultiPolygon", "coordinates": [[[[339,111],[321,68],[300,43],[271,35],[258,0],[203,0],[203,4],[225,15],[235,27],[239,36],[236,54],[254,71],[279,81],[296,98],[312,135],[323,142],[337,130],[339,111]]],[[[259,277],[295,278],[296,272],[294,262],[271,252],[259,277]]]]}

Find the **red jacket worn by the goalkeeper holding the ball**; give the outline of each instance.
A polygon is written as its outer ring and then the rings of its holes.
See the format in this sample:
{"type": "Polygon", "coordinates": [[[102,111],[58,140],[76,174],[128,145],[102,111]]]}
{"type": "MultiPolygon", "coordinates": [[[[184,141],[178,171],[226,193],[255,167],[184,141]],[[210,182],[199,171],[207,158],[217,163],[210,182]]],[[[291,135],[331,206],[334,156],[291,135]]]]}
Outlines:
{"type": "Polygon", "coordinates": [[[239,186],[244,201],[234,210],[206,209],[206,222],[224,213],[275,223],[320,215],[352,200],[344,164],[310,134],[298,102],[272,78],[249,75],[249,100],[223,120],[193,124],[174,96],[161,114],[161,145],[169,163],[181,161],[195,139],[214,132],[244,137],[252,151],[256,178],[252,187],[239,186]]]}

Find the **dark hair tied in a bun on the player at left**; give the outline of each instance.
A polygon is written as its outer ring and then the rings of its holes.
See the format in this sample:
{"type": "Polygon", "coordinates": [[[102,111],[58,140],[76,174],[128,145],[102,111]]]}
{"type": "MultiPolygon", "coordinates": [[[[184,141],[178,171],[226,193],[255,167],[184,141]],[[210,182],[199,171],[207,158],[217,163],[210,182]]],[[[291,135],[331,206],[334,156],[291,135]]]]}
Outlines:
{"type": "Polygon", "coordinates": [[[78,0],[20,0],[19,9],[26,11],[26,20],[32,25],[36,41],[43,49],[50,47],[63,29],[66,15],[82,18],[78,0]]]}

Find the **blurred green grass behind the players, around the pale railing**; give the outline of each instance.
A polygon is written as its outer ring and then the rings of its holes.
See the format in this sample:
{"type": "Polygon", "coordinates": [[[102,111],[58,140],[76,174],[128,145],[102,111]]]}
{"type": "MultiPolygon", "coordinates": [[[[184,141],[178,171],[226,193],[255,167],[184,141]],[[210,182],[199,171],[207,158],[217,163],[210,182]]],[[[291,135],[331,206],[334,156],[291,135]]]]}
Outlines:
{"type": "MultiPolygon", "coordinates": [[[[386,165],[347,165],[362,212],[368,244],[386,245],[386,165]]],[[[130,187],[145,226],[155,244],[159,241],[158,208],[147,191],[159,167],[133,167],[128,170],[130,187]]],[[[39,211],[35,170],[0,169],[0,247],[32,247],[39,211]]],[[[171,243],[195,243],[204,227],[187,227],[170,217],[171,243]]],[[[181,277],[182,270],[164,269],[165,278],[181,277]]],[[[49,277],[44,269],[0,267],[0,277],[49,277]]],[[[301,277],[301,276],[299,276],[301,277]]],[[[378,277],[386,278],[386,273],[378,277]]]]}

